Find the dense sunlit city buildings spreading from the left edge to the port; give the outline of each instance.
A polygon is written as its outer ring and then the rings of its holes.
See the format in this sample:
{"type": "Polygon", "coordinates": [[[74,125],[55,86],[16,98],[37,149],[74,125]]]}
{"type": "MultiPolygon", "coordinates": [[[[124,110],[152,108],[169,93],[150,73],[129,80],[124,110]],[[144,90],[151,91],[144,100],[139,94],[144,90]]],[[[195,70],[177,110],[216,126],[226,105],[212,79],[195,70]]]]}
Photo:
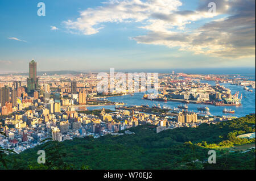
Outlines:
{"type": "MultiPolygon", "coordinates": [[[[232,95],[229,89],[218,84],[210,86],[208,83],[201,83],[200,80],[204,79],[226,81],[255,89],[255,81],[239,78],[230,82],[230,78],[209,75],[161,74],[157,99],[186,103],[240,103],[238,95],[232,95]]],[[[5,133],[5,136],[0,136],[0,146],[13,148],[20,153],[49,137],[55,141],[85,136],[97,138],[105,134],[123,134],[118,132],[143,124],[156,125],[158,133],[166,129],[197,127],[201,123],[217,123],[231,119],[225,116],[209,117],[207,113],[202,116],[186,111],[186,107],[174,108],[165,113],[143,112],[145,106],[129,110],[129,107],[123,107],[121,103],[101,99],[106,96],[133,94],[133,91],[127,89],[118,92],[97,92],[97,82],[97,74],[94,73],[43,74],[39,78],[34,60],[29,63],[28,78],[25,75],[0,77],[0,131],[5,133]],[[104,108],[96,113],[86,112],[88,106],[110,104],[116,105],[117,108],[119,105],[122,109],[108,110],[108,113],[104,108]]],[[[141,89],[142,87],[139,87],[139,90],[141,89]]],[[[144,98],[148,99],[146,94],[144,98]]],[[[159,107],[152,109],[157,111],[159,107]]],[[[133,134],[129,131],[124,133],[133,134]]]]}

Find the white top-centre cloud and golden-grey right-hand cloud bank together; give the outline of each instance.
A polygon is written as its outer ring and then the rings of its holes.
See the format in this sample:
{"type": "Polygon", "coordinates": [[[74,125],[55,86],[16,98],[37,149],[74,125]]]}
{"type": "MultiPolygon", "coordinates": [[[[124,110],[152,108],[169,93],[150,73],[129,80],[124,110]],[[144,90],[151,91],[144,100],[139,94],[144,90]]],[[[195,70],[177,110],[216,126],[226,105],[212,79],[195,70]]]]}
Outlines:
{"type": "Polygon", "coordinates": [[[148,32],[133,37],[140,44],[179,47],[195,54],[220,58],[255,57],[255,0],[201,0],[196,10],[181,11],[179,0],[108,1],[104,6],[80,11],[76,20],[64,21],[71,32],[98,33],[102,23],[141,22],[148,32]],[[216,14],[208,3],[216,3],[216,14]],[[214,16],[226,18],[213,19],[214,16]],[[200,28],[188,30],[187,24],[208,20],[200,28]]]}

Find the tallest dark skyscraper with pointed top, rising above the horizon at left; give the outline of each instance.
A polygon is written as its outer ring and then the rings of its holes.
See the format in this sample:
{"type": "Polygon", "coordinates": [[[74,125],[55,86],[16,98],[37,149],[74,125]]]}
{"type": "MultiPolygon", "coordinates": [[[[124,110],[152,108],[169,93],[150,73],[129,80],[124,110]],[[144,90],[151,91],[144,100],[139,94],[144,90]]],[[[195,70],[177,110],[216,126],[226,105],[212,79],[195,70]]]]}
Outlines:
{"type": "Polygon", "coordinates": [[[27,78],[27,92],[32,94],[35,90],[39,89],[38,78],[36,77],[36,62],[32,60],[30,62],[30,73],[29,78],[27,78]]]}

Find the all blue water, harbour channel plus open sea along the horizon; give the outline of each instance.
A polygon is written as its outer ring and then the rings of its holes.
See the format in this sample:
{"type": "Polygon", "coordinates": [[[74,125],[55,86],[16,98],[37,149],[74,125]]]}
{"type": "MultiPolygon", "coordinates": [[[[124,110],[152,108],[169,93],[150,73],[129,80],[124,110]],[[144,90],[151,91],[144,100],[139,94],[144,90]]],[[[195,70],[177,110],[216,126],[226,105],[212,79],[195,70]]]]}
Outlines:
{"type": "MultiPolygon", "coordinates": [[[[212,75],[230,75],[230,77],[240,77],[240,78],[246,78],[250,81],[255,81],[255,68],[205,68],[205,69],[138,69],[138,70],[118,70],[122,72],[147,72],[147,73],[172,73],[172,71],[175,71],[175,73],[185,73],[185,74],[212,74],[212,75]]],[[[215,85],[214,81],[200,81],[209,83],[209,85],[215,85]]],[[[205,105],[205,104],[188,104],[188,111],[193,112],[199,112],[197,108],[199,107],[209,107],[210,113],[214,116],[237,116],[242,117],[245,115],[249,115],[250,113],[255,113],[255,89],[252,89],[253,92],[243,90],[243,86],[237,86],[237,85],[230,85],[229,83],[220,83],[220,85],[230,89],[232,91],[232,95],[234,95],[236,92],[239,91],[239,94],[241,96],[242,94],[242,106],[212,106],[212,105],[205,105]],[[224,108],[227,109],[233,109],[235,110],[235,113],[224,113],[224,108]]],[[[174,108],[179,106],[179,102],[161,102],[161,101],[155,101],[155,100],[145,100],[142,99],[144,93],[143,92],[137,92],[134,94],[134,96],[131,95],[123,95],[123,96],[113,96],[106,98],[112,102],[123,102],[126,104],[126,106],[141,106],[141,105],[148,105],[150,107],[157,106],[160,104],[161,107],[166,106],[169,108],[174,108]]],[[[95,107],[87,107],[88,110],[99,110],[102,108],[109,109],[109,110],[115,110],[115,106],[95,106],[95,107]]]]}

